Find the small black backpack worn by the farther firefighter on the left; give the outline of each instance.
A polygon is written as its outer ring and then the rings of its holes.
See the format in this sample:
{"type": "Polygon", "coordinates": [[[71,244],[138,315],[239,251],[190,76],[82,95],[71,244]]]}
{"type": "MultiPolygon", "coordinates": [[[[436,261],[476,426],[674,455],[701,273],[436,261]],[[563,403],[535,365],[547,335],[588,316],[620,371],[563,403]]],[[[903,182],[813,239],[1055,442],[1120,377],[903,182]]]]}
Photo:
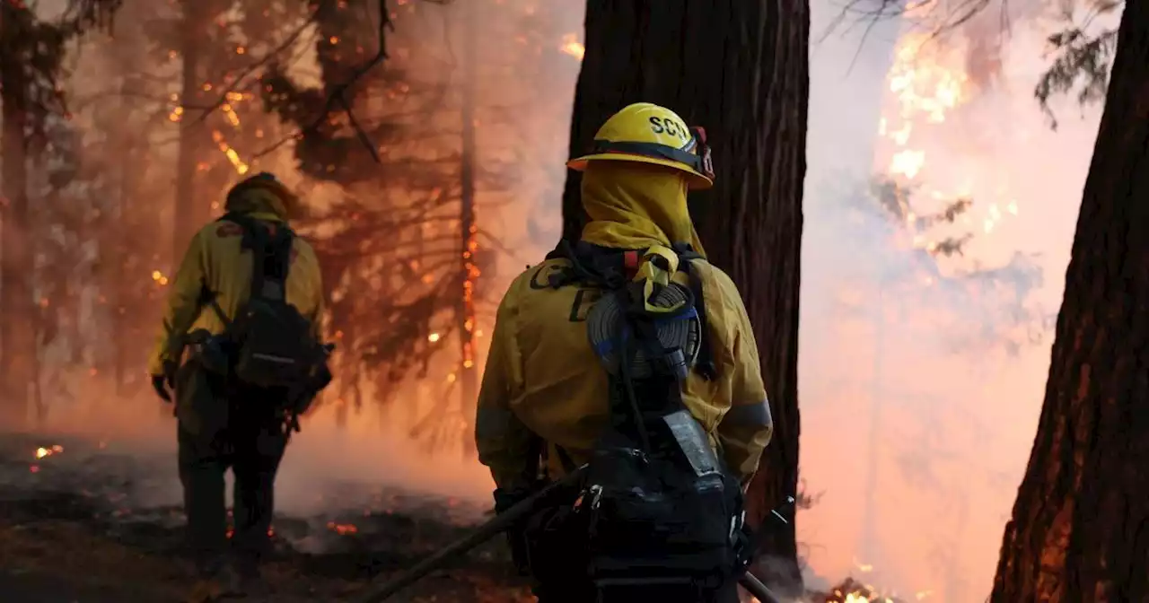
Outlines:
{"type": "Polygon", "coordinates": [[[253,262],[250,293],[234,319],[226,316],[210,292],[206,295],[224,324],[231,350],[229,372],[257,387],[299,393],[315,389],[315,381],[326,373],[327,348],[316,340],[311,322],[286,300],[295,233],[286,225],[265,224],[242,214],[228,214],[218,222],[242,229],[240,246],[252,252],[253,262]]]}

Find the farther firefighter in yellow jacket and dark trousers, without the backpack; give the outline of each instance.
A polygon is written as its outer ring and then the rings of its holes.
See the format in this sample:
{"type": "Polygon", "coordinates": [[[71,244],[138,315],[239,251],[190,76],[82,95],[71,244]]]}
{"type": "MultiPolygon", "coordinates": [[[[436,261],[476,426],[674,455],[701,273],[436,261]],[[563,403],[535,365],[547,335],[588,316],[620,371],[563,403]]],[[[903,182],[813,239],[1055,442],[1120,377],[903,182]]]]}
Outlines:
{"type": "MultiPolygon", "coordinates": [[[[245,225],[261,232],[287,229],[298,206],[295,194],[270,173],[247,178],[229,192],[226,214],[195,233],[171,280],[149,358],[156,394],[171,402],[173,389],[176,399],[188,544],[201,572],[193,598],[259,585],[252,579],[270,544],[275,476],[290,436],[284,427],[287,393],[238,381],[226,366],[211,366],[226,365],[231,351],[224,349],[223,360],[209,351],[228,346],[221,343],[228,323],[250,299],[256,262],[254,249],[246,248],[245,225]],[[229,469],[236,478],[230,551],[224,502],[229,469]]],[[[310,322],[318,340],[324,308],[319,264],[303,239],[292,237],[287,245],[284,297],[310,322]]]]}

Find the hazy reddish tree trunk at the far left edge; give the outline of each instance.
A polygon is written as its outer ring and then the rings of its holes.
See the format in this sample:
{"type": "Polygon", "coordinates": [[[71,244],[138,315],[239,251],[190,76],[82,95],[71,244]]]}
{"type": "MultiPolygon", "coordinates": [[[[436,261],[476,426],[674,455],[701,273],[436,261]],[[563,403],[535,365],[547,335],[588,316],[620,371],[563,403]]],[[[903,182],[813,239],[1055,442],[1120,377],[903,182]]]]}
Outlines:
{"type": "Polygon", "coordinates": [[[31,254],[28,240],[28,124],[29,84],[20,45],[26,33],[20,31],[15,13],[28,10],[10,2],[0,3],[0,105],[3,106],[2,193],[0,203],[0,425],[20,428],[28,418],[28,386],[32,379],[31,254]],[[13,45],[11,48],[7,47],[13,45]]]}

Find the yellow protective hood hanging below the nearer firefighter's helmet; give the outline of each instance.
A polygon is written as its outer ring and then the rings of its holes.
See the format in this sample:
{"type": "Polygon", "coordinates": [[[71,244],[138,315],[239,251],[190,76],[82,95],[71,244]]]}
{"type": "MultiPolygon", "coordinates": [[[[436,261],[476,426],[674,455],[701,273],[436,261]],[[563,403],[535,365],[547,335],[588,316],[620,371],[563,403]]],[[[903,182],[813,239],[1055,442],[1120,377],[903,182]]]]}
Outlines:
{"type": "Polygon", "coordinates": [[[592,161],[583,173],[583,240],[616,249],[688,242],[705,256],[686,209],[686,179],[677,171],[592,161]]]}

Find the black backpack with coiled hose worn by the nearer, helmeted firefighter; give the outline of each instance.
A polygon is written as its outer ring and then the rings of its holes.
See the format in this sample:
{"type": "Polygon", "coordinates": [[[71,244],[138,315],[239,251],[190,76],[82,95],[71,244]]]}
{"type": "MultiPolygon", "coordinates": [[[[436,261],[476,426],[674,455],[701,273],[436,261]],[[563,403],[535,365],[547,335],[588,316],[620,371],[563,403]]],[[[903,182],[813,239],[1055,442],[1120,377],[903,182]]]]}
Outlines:
{"type": "Polygon", "coordinates": [[[654,306],[678,306],[673,311],[651,311],[645,284],[627,275],[645,252],[563,241],[548,256],[572,264],[552,275],[552,287],[602,291],[586,323],[609,376],[610,424],[572,515],[585,531],[588,578],[603,597],[626,598],[633,588],[718,588],[748,561],[740,484],[683,403],[691,371],[716,374],[701,280],[691,268],[701,256],[685,243],[673,250],[691,285],[655,285],[649,296],[654,306]]]}

